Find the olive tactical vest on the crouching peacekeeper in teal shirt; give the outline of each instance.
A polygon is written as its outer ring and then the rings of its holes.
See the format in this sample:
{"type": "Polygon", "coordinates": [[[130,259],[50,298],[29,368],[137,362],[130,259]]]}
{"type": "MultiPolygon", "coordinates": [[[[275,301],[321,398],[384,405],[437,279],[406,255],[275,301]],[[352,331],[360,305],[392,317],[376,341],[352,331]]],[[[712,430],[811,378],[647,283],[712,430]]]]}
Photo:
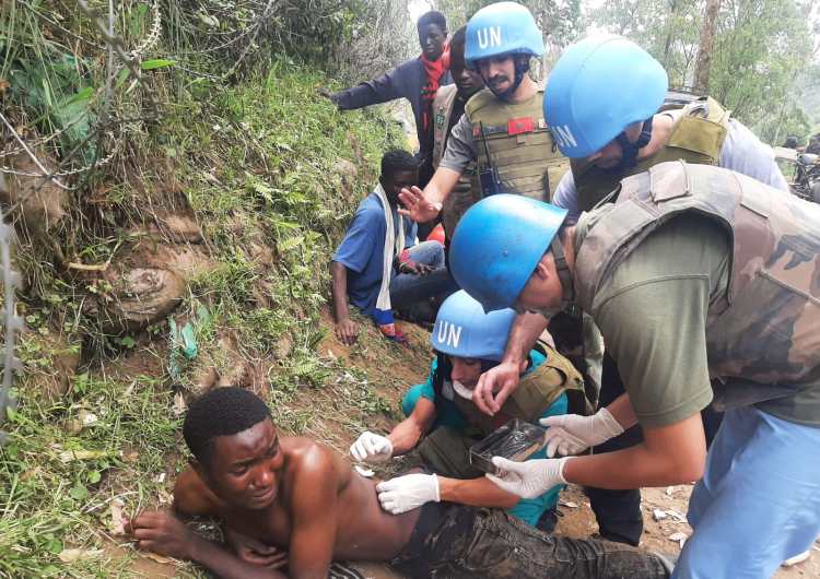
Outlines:
{"type": "Polygon", "coordinates": [[[518,388],[501,406],[494,416],[481,412],[470,400],[456,395],[456,407],[467,417],[470,426],[480,436],[487,436],[512,418],[532,422],[543,414],[561,394],[570,398],[570,412],[590,414],[591,405],[584,395],[584,379],[578,370],[564,356],[546,344],[539,346],[547,353],[547,359],[535,370],[524,376],[518,388]]]}

